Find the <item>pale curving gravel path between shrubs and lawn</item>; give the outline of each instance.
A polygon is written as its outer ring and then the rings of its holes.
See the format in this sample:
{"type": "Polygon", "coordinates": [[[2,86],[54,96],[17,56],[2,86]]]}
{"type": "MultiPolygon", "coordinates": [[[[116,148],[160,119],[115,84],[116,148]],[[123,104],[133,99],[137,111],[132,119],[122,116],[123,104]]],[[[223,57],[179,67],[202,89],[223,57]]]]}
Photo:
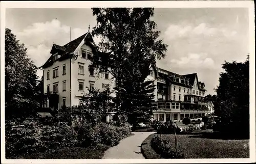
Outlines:
{"type": "Polygon", "coordinates": [[[134,135],[129,136],[120,141],[117,146],[111,147],[105,151],[103,159],[144,159],[141,154],[141,143],[147,138],[148,135],[154,132],[133,132],[134,135]]]}

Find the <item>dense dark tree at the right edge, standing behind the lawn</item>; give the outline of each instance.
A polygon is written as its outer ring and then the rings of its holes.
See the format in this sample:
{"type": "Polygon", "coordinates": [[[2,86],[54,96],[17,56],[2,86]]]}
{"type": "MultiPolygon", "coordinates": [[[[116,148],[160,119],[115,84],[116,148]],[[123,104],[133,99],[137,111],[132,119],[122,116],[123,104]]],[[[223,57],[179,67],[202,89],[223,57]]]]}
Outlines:
{"type": "Polygon", "coordinates": [[[243,63],[225,61],[222,68],[214,130],[238,135],[237,129],[243,129],[243,135],[249,136],[249,56],[243,63]]]}

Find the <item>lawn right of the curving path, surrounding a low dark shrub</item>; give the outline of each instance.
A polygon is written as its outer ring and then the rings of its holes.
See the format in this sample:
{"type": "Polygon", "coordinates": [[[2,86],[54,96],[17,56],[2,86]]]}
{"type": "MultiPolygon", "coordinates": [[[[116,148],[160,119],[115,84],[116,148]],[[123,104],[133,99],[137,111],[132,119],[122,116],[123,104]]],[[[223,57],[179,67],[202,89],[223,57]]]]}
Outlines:
{"type": "MultiPolygon", "coordinates": [[[[148,136],[141,145],[145,158],[161,158],[150,145],[154,135],[148,136]]],[[[173,141],[175,150],[174,134],[162,134],[162,139],[173,141]]],[[[249,158],[249,140],[210,139],[202,134],[179,134],[177,140],[178,152],[184,153],[185,158],[249,158]]]]}

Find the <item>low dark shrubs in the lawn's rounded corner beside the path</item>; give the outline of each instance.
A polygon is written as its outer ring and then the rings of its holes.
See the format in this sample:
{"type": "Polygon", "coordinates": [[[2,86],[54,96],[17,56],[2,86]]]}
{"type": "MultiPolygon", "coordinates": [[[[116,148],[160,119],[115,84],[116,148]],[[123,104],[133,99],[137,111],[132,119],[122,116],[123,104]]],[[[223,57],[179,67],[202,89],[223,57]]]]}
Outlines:
{"type": "Polygon", "coordinates": [[[158,135],[151,140],[151,146],[156,153],[161,154],[162,158],[185,158],[184,154],[176,154],[176,152],[173,151],[169,140],[161,141],[158,135]]]}

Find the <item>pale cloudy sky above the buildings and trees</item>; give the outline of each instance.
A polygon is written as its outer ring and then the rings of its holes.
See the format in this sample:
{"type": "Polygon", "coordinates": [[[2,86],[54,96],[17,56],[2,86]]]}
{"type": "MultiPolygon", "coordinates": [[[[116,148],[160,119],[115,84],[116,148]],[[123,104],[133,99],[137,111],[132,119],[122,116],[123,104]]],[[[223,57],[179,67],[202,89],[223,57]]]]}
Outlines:
{"type": "MultiPolygon", "coordinates": [[[[224,61],[244,62],[249,53],[247,8],[155,8],[152,20],[161,31],[159,39],[168,45],[157,67],[197,73],[207,94],[215,94],[224,61]]],[[[6,9],[6,28],[25,44],[37,67],[50,57],[53,42],[65,45],[70,36],[74,40],[96,23],[91,9],[6,9]]]]}

